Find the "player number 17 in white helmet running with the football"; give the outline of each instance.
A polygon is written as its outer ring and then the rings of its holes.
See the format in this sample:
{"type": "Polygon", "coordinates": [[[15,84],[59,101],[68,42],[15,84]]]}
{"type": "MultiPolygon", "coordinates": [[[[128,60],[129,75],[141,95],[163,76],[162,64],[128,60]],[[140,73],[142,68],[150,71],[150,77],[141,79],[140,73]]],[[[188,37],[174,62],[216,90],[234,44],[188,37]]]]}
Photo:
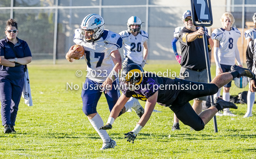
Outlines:
{"type": "MultiPolygon", "coordinates": [[[[123,45],[123,40],[118,34],[104,30],[104,24],[100,15],[89,14],[83,19],[80,28],[75,30],[73,39],[75,44],[84,48],[87,63],[87,78],[81,95],[83,112],[103,140],[102,150],[114,148],[116,141],[110,139],[105,130],[99,130],[104,123],[97,113],[97,103],[104,92],[111,111],[120,97],[118,72],[121,70],[122,60],[118,49],[123,45]]],[[[82,54],[82,51],[73,50],[73,47],[66,54],[69,62],[74,62],[74,58],[79,58],[82,54]]],[[[131,107],[138,109],[138,105],[133,101],[127,102],[124,109],[120,110],[120,115],[131,107]]],[[[142,116],[142,113],[138,113],[138,116],[142,116]]]]}

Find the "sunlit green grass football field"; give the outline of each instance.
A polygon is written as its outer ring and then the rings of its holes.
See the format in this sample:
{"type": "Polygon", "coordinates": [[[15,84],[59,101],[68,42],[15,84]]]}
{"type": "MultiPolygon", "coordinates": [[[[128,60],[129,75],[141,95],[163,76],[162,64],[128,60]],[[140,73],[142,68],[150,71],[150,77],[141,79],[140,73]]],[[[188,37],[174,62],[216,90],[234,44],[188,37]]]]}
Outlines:
{"type": "MultiPolygon", "coordinates": [[[[173,112],[169,108],[156,105],[161,113],[153,113],[146,126],[140,131],[135,143],[124,139],[124,133],[131,131],[139,117],[136,113],[125,113],[118,117],[113,129],[108,130],[112,139],[117,141],[114,149],[100,150],[102,140],[89,123],[82,111],[81,91],[86,76],[86,63],[83,60],[58,65],[34,61],[29,64],[31,93],[34,106],[19,105],[16,119],[16,133],[0,132],[0,158],[4,159],[226,159],[256,158],[256,111],[253,117],[244,119],[247,105],[237,104],[232,110],[237,117],[217,116],[218,133],[214,133],[211,120],[203,131],[191,131],[181,123],[181,131],[171,131],[173,112]],[[77,77],[76,70],[83,75],[77,77]],[[67,90],[67,82],[78,90],[67,90]],[[77,88],[77,87],[76,87],[77,88]]],[[[178,75],[180,65],[176,61],[149,62],[147,71],[167,69],[178,75]]],[[[215,77],[212,67],[212,78],[215,77]]],[[[234,86],[230,94],[248,90],[234,86]]],[[[144,102],[140,101],[144,107],[144,102]]],[[[104,123],[108,120],[109,110],[105,97],[100,99],[97,110],[104,123]]]]}

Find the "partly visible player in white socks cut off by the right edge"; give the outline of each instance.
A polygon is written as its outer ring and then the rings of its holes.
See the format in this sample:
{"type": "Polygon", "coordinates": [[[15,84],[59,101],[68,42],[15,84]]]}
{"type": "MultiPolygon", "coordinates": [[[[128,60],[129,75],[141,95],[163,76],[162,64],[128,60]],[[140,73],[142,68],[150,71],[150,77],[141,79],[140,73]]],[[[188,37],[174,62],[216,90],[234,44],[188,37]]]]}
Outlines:
{"type": "MultiPolygon", "coordinates": [[[[251,71],[253,71],[253,73],[256,73],[255,70],[255,42],[251,42],[252,40],[256,39],[256,12],[253,14],[252,16],[252,20],[254,23],[254,28],[253,29],[249,29],[246,30],[244,33],[245,39],[247,41],[247,50],[246,50],[246,63],[247,63],[247,67],[248,69],[250,69],[251,71]],[[249,43],[251,42],[250,46],[249,43]],[[254,52],[252,51],[254,50],[254,52]]],[[[249,90],[247,93],[247,112],[244,115],[245,117],[252,117],[252,107],[253,104],[255,102],[255,88],[253,88],[255,86],[255,81],[253,79],[249,79],[249,90]]]]}

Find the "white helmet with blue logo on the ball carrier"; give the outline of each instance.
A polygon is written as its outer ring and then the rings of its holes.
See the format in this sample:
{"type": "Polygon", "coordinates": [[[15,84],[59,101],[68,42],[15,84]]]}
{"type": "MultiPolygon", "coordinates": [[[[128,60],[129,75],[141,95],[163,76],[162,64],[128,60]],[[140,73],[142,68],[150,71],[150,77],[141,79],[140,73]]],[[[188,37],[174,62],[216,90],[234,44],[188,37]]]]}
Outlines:
{"type": "Polygon", "coordinates": [[[100,15],[95,13],[87,15],[80,26],[81,39],[84,42],[92,42],[93,40],[100,38],[104,31],[104,24],[104,20],[100,15]],[[93,34],[85,36],[86,31],[91,31],[93,34]]]}

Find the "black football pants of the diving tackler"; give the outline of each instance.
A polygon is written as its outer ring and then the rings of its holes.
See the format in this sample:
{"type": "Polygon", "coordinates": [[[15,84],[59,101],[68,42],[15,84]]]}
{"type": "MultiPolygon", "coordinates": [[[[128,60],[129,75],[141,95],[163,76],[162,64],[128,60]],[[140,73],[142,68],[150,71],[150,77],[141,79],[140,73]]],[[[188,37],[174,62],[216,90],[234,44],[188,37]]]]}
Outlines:
{"type": "Polygon", "coordinates": [[[207,84],[202,82],[191,82],[187,80],[179,80],[180,84],[191,85],[192,90],[180,90],[178,96],[173,101],[169,108],[175,113],[177,118],[185,125],[190,126],[195,129],[195,131],[200,131],[204,128],[203,120],[196,114],[189,101],[194,98],[211,96],[218,92],[218,86],[215,84],[207,84]],[[198,89],[193,89],[198,88],[198,89]],[[200,89],[199,89],[200,88],[200,89]],[[202,89],[203,88],[203,89],[202,89]]]}

